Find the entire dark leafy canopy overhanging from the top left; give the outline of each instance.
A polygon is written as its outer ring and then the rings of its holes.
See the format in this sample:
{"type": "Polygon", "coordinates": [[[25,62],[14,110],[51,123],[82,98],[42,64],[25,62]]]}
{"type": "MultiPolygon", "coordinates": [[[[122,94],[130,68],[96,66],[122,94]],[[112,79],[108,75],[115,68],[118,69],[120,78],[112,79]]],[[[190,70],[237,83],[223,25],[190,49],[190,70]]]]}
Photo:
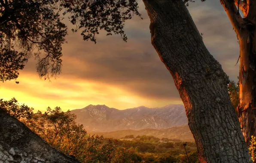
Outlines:
{"type": "Polygon", "coordinates": [[[132,14],[141,17],[137,9],[137,0],[0,0],[0,81],[18,78],[32,56],[38,59],[40,78],[60,74],[64,15],[86,41],[96,43],[101,29],[126,41],[124,22],[132,14]]]}

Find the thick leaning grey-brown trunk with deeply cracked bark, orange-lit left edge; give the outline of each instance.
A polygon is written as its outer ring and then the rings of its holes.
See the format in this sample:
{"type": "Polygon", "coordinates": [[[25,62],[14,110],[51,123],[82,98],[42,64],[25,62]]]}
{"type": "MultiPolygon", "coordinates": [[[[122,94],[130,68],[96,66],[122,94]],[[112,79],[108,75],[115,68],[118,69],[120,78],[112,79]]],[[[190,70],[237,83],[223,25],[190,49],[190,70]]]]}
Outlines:
{"type": "Polygon", "coordinates": [[[152,45],[174,78],[201,163],[252,163],[229,98],[228,76],[182,0],[143,0],[152,45]]]}

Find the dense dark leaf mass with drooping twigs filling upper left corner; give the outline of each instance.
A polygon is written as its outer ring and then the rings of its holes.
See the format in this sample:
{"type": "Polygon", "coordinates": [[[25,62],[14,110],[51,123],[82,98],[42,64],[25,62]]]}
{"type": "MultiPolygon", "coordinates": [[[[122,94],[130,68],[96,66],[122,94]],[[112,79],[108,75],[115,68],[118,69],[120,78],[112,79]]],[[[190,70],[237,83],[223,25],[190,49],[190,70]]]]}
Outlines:
{"type": "Polygon", "coordinates": [[[61,22],[58,0],[0,0],[0,80],[16,79],[34,55],[40,77],[61,71],[61,45],[67,27],[61,22]]]}

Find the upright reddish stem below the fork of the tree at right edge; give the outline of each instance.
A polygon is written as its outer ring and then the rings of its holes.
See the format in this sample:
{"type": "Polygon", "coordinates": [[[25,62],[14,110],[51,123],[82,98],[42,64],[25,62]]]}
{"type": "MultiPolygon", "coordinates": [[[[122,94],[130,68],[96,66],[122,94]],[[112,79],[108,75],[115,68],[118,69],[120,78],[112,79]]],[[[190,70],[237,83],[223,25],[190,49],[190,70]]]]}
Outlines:
{"type": "Polygon", "coordinates": [[[240,103],[238,117],[245,141],[247,145],[250,145],[251,136],[256,136],[256,56],[252,53],[250,42],[247,40],[248,32],[246,30],[242,32],[243,39],[240,40],[240,103]]]}

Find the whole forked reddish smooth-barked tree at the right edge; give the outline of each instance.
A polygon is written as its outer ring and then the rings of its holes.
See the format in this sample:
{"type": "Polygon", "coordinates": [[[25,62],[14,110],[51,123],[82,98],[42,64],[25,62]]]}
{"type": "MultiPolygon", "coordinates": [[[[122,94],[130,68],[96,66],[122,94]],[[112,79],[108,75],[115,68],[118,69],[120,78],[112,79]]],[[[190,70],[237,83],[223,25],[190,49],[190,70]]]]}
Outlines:
{"type": "Polygon", "coordinates": [[[239,106],[241,129],[250,145],[256,136],[256,0],[220,0],[238,36],[240,45],[239,106]],[[243,13],[244,18],[238,12],[243,13]]]}

